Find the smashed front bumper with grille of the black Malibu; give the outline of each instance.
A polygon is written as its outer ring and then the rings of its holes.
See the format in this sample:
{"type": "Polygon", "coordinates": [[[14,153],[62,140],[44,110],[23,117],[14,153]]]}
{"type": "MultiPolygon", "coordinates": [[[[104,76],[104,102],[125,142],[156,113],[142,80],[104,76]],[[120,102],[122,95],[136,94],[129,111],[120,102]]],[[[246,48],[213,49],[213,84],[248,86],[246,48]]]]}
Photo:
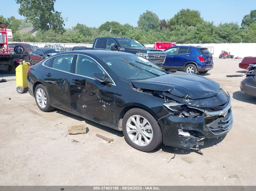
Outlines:
{"type": "Polygon", "coordinates": [[[165,145],[193,148],[196,145],[204,145],[204,138],[220,137],[230,131],[233,125],[230,96],[221,110],[218,110],[219,107],[197,109],[202,111],[200,116],[181,117],[169,113],[158,119],[165,145]]]}

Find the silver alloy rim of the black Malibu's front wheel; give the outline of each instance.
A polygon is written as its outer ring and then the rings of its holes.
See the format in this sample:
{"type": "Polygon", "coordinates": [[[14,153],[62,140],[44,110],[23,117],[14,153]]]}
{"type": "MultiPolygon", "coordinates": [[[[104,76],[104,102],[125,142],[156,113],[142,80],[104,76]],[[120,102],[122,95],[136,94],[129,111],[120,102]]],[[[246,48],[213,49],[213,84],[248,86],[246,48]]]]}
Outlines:
{"type": "Polygon", "coordinates": [[[153,137],[150,123],[140,115],[133,115],[128,119],[126,131],[131,141],[139,146],[148,145],[153,137]]]}

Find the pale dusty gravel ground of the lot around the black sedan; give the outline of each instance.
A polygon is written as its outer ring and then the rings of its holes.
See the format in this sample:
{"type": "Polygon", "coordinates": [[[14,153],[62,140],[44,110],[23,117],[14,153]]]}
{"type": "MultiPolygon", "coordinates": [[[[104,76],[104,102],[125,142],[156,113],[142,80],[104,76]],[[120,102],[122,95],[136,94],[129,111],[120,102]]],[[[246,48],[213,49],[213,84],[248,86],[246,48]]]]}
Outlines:
{"type": "Polygon", "coordinates": [[[122,132],[62,110],[40,111],[28,92],[16,92],[15,75],[1,74],[7,82],[0,83],[0,185],[256,185],[256,99],[240,91],[244,77],[225,77],[245,73],[239,61],[214,58],[203,75],[232,95],[234,115],[225,137],[201,147],[204,156],[165,145],[137,151],[122,132]],[[68,122],[83,120],[87,134],[61,135],[68,122]]]}

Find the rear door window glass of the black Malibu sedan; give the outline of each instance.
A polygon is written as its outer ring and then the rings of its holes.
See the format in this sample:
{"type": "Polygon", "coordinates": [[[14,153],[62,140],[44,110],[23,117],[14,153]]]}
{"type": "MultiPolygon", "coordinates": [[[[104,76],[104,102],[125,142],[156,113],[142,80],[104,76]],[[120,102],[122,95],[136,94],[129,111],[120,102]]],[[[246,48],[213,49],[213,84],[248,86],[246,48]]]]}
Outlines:
{"type": "Polygon", "coordinates": [[[70,72],[70,67],[72,60],[74,58],[74,55],[61,55],[61,56],[56,56],[52,65],[52,68],[62,70],[65,72],[70,72]]]}

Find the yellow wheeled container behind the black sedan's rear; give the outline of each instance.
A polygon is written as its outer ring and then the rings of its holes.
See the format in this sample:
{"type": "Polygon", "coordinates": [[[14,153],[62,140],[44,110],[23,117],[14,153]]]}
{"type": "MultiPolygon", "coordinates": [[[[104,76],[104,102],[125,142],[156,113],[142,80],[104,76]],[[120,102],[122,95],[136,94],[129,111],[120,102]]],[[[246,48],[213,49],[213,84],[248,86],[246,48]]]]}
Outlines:
{"type": "Polygon", "coordinates": [[[18,65],[16,68],[16,90],[19,94],[22,94],[25,91],[25,88],[28,88],[28,68],[29,65],[25,61],[23,61],[22,64],[18,65]]]}

